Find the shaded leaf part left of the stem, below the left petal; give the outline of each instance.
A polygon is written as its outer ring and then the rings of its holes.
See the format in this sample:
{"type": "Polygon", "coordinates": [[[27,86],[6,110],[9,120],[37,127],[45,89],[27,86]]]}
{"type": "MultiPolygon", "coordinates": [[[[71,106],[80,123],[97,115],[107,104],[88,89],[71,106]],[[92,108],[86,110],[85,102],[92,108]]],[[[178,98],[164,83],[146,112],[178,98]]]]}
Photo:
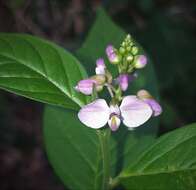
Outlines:
{"type": "Polygon", "coordinates": [[[77,112],[47,106],[44,139],[49,160],[67,187],[102,189],[98,134],[80,123],[77,112]]]}

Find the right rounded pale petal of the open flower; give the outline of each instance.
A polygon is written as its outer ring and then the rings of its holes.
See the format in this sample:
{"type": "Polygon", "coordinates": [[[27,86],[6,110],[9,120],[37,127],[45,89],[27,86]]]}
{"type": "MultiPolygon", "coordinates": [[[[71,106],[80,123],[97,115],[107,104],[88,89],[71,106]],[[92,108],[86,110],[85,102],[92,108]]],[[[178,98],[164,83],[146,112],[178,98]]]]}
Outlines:
{"type": "Polygon", "coordinates": [[[150,106],[136,96],[126,96],[120,106],[123,123],[127,127],[138,127],[152,115],[150,106]]]}

